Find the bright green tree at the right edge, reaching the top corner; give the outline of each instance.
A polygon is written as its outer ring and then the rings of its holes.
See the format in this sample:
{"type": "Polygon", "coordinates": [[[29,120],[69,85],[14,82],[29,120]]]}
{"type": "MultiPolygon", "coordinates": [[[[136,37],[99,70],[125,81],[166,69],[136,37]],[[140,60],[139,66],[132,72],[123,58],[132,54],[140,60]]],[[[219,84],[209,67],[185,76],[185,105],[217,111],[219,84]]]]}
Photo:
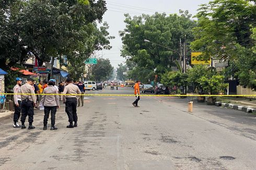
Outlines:
{"type": "Polygon", "coordinates": [[[242,86],[255,89],[255,1],[211,1],[202,5],[196,17],[199,20],[192,49],[202,51],[205,58],[230,60],[230,68],[236,71],[230,76],[238,78],[242,86]]]}

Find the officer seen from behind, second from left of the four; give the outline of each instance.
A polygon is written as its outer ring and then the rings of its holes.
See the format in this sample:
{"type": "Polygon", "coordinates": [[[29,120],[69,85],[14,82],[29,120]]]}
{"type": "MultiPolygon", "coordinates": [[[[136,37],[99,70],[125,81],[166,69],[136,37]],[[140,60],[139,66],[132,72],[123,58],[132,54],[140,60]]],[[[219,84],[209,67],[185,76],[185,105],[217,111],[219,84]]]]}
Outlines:
{"type": "Polygon", "coordinates": [[[37,104],[36,95],[34,95],[34,90],[32,87],[33,79],[28,78],[27,83],[21,86],[21,129],[26,129],[25,120],[28,116],[29,127],[28,129],[34,129],[33,115],[34,115],[34,106],[37,104]]]}

